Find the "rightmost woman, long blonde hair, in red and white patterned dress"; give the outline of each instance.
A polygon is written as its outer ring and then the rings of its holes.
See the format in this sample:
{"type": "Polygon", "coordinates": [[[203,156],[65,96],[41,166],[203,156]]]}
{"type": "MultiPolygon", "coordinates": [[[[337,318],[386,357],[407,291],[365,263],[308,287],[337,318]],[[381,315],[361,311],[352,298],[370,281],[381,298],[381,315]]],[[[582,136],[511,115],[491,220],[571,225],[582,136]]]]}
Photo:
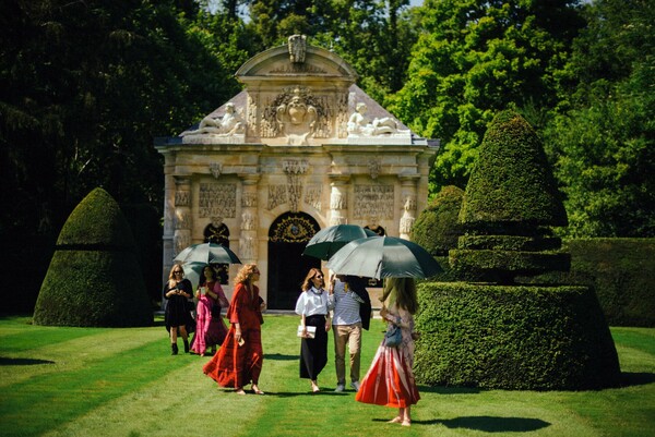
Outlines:
{"type": "Polygon", "coordinates": [[[388,323],[388,329],[398,326],[403,340],[400,345],[389,348],[384,341],[378,348],[373,362],[364,377],[355,400],[376,405],[398,409],[398,414],[390,423],[412,425],[412,405],[420,399],[414,381],[414,314],[418,308],[416,284],[412,278],[389,278],[384,287],[380,316],[388,323]],[[384,301],[390,299],[389,308],[384,301]]]}

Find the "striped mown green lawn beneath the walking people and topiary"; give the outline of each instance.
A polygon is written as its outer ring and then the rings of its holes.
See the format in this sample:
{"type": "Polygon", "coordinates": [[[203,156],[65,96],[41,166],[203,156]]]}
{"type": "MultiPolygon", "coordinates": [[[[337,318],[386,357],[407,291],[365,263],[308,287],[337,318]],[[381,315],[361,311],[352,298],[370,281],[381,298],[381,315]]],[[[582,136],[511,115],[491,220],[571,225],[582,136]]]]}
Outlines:
{"type": "MultiPolygon", "coordinates": [[[[33,326],[0,318],[0,436],[653,436],[655,329],[612,328],[626,386],[599,391],[419,387],[410,428],[394,411],[334,393],[334,365],[310,394],[298,377],[298,318],[266,316],[266,396],[239,397],[202,374],[209,360],[171,356],[166,330],[33,326]]],[[[362,371],[382,325],[365,332],[362,371]]],[[[181,341],[180,341],[181,345],[181,341]]],[[[332,353],[330,341],[330,356],[332,353]]],[[[332,360],[332,359],[331,359],[332,360]]]]}

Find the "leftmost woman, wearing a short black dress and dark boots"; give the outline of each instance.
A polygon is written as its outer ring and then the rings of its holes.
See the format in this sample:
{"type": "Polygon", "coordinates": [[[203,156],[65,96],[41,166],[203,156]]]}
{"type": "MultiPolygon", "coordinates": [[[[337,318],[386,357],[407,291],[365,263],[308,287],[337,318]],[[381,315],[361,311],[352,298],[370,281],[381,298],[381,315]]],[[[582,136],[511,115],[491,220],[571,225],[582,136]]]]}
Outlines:
{"type": "Polygon", "coordinates": [[[170,349],[172,355],[177,355],[178,335],[184,341],[184,352],[189,352],[189,332],[187,326],[193,323],[188,302],[193,295],[191,281],[184,279],[184,270],[179,264],[175,264],[168,274],[168,281],[164,286],[164,296],[168,300],[166,304],[166,330],[170,332],[170,349]]]}

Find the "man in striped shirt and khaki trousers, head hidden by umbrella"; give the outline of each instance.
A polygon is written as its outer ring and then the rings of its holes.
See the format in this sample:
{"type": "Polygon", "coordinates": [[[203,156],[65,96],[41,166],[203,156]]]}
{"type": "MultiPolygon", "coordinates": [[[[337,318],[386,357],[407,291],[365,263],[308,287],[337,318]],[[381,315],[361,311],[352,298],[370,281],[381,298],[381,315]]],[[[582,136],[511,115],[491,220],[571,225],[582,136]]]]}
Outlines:
{"type": "Polygon", "coordinates": [[[346,344],[350,352],[350,387],[359,390],[361,328],[369,329],[371,301],[361,278],[336,276],[330,284],[330,300],[334,307],[334,366],[336,389],[346,388],[346,344]]]}

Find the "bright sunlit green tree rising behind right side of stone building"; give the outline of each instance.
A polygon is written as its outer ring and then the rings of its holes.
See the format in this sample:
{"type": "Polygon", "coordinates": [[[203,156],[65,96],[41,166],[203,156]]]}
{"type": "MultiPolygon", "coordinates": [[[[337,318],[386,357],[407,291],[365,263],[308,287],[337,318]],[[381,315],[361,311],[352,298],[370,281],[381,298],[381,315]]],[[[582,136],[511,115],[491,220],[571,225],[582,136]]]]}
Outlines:
{"type": "Polygon", "coordinates": [[[432,191],[464,187],[492,116],[516,108],[539,126],[552,75],[582,25],[577,0],[426,0],[408,80],[390,109],[441,138],[432,191]]]}

